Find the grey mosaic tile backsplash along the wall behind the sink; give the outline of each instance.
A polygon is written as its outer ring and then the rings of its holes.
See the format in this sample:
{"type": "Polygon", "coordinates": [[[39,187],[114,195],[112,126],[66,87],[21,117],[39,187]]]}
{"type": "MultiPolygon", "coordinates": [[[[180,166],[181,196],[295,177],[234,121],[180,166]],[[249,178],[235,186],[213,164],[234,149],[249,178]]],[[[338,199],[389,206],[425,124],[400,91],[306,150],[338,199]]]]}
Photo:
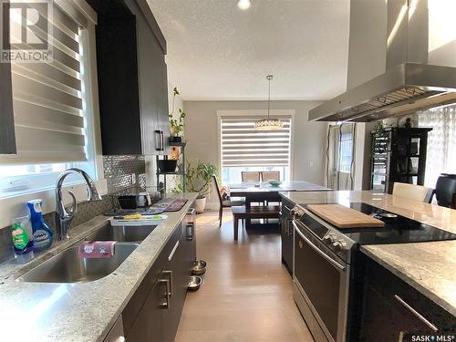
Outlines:
{"type": "MultiPolygon", "coordinates": [[[[101,201],[80,202],[78,212],[71,223],[76,227],[81,223],[93,219],[112,209],[113,202],[109,194],[119,192],[131,186],[146,187],[146,162],[144,156],[103,156],[103,171],[108,183],[108,195],[103,196],[101,201]],[[132,176],[134,174],[134,176],[132,176]],[[133,181],[136,181],[134,183],[133,181]]],[[[55,212],[44,215],[45,222],[55,232],[55,212]]],[[[11,233],[9,229],[0,229],[0,262],[13,256],[11,233]]]]}

